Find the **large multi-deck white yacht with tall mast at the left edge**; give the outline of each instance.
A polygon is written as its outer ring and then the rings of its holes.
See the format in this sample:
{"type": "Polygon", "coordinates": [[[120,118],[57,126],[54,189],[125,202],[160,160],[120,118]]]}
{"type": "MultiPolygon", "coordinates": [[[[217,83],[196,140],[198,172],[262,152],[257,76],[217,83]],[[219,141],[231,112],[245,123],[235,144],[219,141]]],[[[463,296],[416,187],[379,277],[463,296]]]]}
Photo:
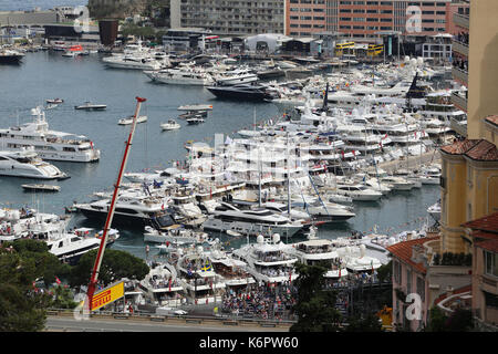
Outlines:
{"type": "Polygon", "coordinates": [[[0,148],[18,150],[34,147],[42,159],[89,163],[96,162],[101,152],[85,136],[49,129],[42,107],[31,110],[33,122],[0,129],[0,148]]]}

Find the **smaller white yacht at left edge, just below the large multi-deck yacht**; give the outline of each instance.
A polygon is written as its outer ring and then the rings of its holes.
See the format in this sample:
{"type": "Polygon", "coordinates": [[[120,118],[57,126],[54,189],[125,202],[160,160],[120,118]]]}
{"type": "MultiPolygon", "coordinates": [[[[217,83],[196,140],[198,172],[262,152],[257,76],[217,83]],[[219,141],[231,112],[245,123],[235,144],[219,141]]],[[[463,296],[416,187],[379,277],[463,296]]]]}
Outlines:
{"type": "Polygon", "coordinates": [[[68,175],[43,162],[33,147],[19,152],[0,150],[0,175],[38,179],[62,179],[68,175]]]}

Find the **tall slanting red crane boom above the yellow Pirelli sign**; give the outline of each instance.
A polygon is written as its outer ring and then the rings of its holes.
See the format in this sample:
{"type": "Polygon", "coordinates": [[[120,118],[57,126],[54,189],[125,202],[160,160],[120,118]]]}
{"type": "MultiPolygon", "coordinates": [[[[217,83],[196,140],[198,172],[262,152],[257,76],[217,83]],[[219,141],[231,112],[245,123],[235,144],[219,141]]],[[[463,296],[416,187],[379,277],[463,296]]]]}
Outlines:
{"type": "Polygon", "coordinates": [[[92,306],[92,299],[93,299],[93,294],[95,293],[95,288],[96,288],[96,283],[97,283],[97,279],[98,279],[98,271],[101,269],[102,259],[104,257],[105,246],[107,243],[108,230],[111,228],[112,220],[113,220],[113,217],[114,217],[114,209],[115,209],[115,206],[116,206],[116,199],[117,199],[117,194],[118,194],[118,190],[120,190],[120,185],[121,185],[121,181],[123,179],[124,170],[126,168],[126,162],[128,159],[129,147],[132,146],[133,135],[135,133],[136,119],[137,119],[138,113],[141,111],[141,104],[142,104],[142,102],[145,102],[145,101],[146,101],[146,98],[136,97],[136,110],[135,110],[135,115],[133,117],[132,128],[129,129],[128,139],[125,143],[126,147],[125,147],[125,150],[124,150],[124,156],[123,156],[123,160],[121,163],[120,170],[117,173],[117,180],[116,180],[116,184],[114,185],[114,192],[113,192],[113,197],[111,199],[111,206],[110,206],[110,209],[108,209],[107,219],[105,220],[105,226],[104,226],[104,230],[103,230],[103,235],[102,235],[102,239],[101,239],[101,246],[98,247],[98,252],[97,252],[97,256],[96,256],[96,259],[95,259],[95,264],[93,267],[93,271],[92,271],[92,275],[91,275],[91,279],[90,279],[89,289],[86,291],[86,299],[85,299],[85,301],[87,301],[86,306],[87,306],[87,309],[90,311],[92,311],[92,308],[93,308],[92,306]]]}

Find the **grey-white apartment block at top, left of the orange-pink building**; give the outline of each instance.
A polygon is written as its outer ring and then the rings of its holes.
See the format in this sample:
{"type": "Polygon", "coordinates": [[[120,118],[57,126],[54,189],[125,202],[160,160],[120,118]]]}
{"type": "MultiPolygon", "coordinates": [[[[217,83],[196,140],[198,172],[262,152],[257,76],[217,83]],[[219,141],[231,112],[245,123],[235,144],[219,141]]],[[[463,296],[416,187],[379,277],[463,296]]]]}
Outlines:
{"type": "Polygon", "coordinates": [[[284,0],[170,0],[172,27],[231,37],[283,34],[284,6],[284,0]]]}

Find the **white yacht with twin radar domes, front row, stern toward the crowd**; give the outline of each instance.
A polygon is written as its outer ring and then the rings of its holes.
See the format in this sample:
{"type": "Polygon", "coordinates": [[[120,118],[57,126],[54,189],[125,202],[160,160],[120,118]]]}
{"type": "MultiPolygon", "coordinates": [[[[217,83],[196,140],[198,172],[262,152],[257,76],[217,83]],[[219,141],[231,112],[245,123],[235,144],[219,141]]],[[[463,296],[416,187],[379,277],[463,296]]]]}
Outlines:
{"type": "Polygon", "coordinates": [[[289,254],[289,244],[274,233],[270,240],[259,235],[256,243],[249,243],[234,251],[234,258],[247,263],[246,270],[258,283],[292,282],[299,274],[294,270],[295,256],[289,254]]]}

